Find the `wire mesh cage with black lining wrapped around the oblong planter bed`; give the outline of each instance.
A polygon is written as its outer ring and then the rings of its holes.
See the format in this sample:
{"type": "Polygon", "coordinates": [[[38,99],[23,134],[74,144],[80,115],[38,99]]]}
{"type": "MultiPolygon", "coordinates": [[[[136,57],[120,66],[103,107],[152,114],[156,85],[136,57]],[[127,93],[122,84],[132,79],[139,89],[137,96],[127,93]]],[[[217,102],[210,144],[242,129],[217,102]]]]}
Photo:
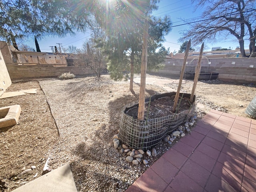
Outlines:
{"type": "MultiPolygon", "coordinates": [[[[176,92],[163,93],[151,97],[151,101],[162,97],[172,97],[176,92]]],[[[188,93],[180,93],[180,96],[190,98],[188,93]]],[[[145,99],[148,102],[150,98],[145,99]]],[[[129,109],[138,107],[138,102],[130,103],[122,108],[119,137],[123,144],[134,149],[147,150],[152,148],[178,126],[182,125],[192,116],[196,108],[195,96],[189,109],[180,113],[170,114],[168,116],[155,119],[140,121],[126,114],[129,109]]]]}

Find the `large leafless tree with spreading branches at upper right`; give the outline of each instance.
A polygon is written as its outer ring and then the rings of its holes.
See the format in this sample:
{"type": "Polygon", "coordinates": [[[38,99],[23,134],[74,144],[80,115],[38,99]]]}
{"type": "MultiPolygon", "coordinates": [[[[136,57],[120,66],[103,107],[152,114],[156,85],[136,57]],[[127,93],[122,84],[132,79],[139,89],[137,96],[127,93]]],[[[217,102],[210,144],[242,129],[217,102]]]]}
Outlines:
{"type": "Polygon", "coordinates": [[[233,35],[239,42],[242,57],[256,57],[256,0],[192,0],[196,8],[206,6],[198,22],[186,22],[189,30],[182,32],[180,42],[192,39],[194,44],[216,42],[233,35]],[[203,19],[202,19],[203,18],[203,19]],[[250,55],[244,41],[250,42],[250,55]]]}

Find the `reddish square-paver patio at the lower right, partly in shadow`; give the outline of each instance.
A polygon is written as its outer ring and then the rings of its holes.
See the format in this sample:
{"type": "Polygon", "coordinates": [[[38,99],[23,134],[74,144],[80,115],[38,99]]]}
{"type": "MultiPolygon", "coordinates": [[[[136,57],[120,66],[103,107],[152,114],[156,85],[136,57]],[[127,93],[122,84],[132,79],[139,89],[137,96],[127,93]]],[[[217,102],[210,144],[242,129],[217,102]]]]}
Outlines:
{"type": "Polygon", "coordinates": [[[256,121],[212,110],[126,192],[256,191],[256,121]]]}

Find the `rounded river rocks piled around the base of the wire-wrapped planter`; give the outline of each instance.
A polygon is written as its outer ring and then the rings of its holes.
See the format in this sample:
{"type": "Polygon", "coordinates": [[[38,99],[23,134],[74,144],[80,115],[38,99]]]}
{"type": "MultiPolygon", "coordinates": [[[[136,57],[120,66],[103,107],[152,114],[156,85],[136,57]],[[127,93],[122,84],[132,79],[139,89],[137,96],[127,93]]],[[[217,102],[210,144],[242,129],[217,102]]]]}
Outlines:
{"type": "MultiPolygon", "coordinates": [[[[176,130],[172,131],[170,135],[167,135],[164,137],[163,141],[169,145],[172,145],[173,142],[178,142],[178,139],[180,137],[184,137],[186,133],[190,133],[190,127],[193,127],[194,124],[196,123],[197,116],[194,115],[190,117],[190,120],[185,122],[183,125],[180,125],[176,130]]],[[[157,155],[156,148],[152,148],[151,150],[147,150],[146,153],[142,149],[134,149],[134,148],[128,148],[125,144],[120,143],[120,138],[118,134],[113,136],[113,144],[114,148],[117,148],[120,150],[120,152],[126,153],[126,161],[129,163],[132,163],[133,165],[138,165],[138,164],[144,164],[147,166],[149,159],[147,157],[153,156],[155,157],[157,155]],[[144,158],[142,160],[142,158],[144,158]]]]}

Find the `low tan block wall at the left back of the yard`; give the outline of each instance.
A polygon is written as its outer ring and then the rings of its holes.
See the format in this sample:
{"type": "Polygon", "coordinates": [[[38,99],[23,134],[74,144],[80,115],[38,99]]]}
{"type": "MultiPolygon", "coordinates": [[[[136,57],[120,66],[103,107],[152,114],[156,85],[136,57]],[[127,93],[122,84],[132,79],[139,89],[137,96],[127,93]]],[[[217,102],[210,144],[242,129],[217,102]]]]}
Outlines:
{"type": "MultiPolygon", "coordinates": [[[[36,64],[36,63],[35,63],[36,64]]],[[[74,75],[93,75],[94,71],[85,67],[54,67],[48,64],[42,65],[18,65],[7,63],[10,78],[20,79],[28,77],[57,77],[62,73],[73,73],[74,75]]]]}

